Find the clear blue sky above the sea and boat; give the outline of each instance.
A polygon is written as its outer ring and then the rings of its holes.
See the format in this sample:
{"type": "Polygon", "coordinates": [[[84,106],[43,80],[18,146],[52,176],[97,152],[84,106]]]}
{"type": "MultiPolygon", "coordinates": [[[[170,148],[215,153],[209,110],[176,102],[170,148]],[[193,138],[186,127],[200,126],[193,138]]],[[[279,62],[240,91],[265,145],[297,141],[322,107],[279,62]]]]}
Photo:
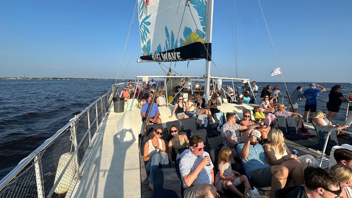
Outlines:
{"type": "MultiPolygon", "coordinates": [[[[0,1],[0,77],[115,79],[136,1],[0,1]]],[[[352,1],[261,1],[286,81],[351,82],[352,1]]],[[[238,77],[282,81],[258,1],[236,1],[238,77]]],[[[234,1],[215,0],[213,60],[235,77],[231,17],[234,1]],[[230,6],[231,5],[231,6],[230,6]]],[[[141,55],[135,20],[121,73],[159,75],[141,55]],[[137,48],[136,48],[137,46],[137,48]],[[136,51],[133,54],[134,49],[136,51]]],[[[170,63],[165,63],[169,66],[170,63]]],[[[203,75],[205,60],[177,63],[203,75]]],[[[174,63],[172,63],[172,68],[174,63]]],[[[212,65],[212,76],[223,76],[212,65]]],[[[119,75],[121,78],[121,74],[119,75]]]]}

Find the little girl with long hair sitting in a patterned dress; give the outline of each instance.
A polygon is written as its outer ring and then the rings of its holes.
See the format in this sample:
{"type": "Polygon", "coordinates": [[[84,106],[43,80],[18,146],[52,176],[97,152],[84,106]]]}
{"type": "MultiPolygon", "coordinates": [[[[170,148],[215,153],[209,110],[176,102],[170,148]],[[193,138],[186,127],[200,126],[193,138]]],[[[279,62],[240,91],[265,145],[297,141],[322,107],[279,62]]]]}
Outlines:
{"type": "Polygon", "coordinates": [[[246,175],[240,175],[239,172],[231,169],[232,151],[230,148],[224,147],[220,150],[218,156],[219,172],[215,176],[215,187],[219,192],[224,193],[225,190],[230,190],[235,195],[242,197],[243,194],[237,190],[236,186],[244,183],[245,188],[251,189],[251,185],[246,175]]]}

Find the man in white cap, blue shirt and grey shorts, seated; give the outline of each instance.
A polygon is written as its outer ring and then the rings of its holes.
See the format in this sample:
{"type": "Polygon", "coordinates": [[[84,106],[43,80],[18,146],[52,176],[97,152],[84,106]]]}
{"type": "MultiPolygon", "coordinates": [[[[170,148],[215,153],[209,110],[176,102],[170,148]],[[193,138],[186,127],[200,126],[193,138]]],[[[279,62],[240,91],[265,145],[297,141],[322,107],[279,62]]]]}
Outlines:
{"type": "Polygon", "coordinates": [[[276,166],[266,162],[267,155],[263,146],[258,144],[260,137],[260,132],[253,130],[245,143],[237,145],[238,155],[251,183],[259,188],[271,186],[270,198],[275,198],[275,191],[285,186],[289,174],[294,177],[295,185],[304,184],[302,166],[296,160],[289,159],[276,166]]]}

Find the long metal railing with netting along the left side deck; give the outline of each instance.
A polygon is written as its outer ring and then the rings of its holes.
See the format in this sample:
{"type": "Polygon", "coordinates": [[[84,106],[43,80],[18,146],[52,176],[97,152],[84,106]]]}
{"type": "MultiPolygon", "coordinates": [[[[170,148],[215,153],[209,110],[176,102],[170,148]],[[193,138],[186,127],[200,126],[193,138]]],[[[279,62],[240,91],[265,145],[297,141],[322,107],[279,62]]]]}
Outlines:
{"type": "Polygon", "coordinates": [[[117,89],[113,85],[23,159],[0,181],[0,197],[70,197],[117,89]]]}

